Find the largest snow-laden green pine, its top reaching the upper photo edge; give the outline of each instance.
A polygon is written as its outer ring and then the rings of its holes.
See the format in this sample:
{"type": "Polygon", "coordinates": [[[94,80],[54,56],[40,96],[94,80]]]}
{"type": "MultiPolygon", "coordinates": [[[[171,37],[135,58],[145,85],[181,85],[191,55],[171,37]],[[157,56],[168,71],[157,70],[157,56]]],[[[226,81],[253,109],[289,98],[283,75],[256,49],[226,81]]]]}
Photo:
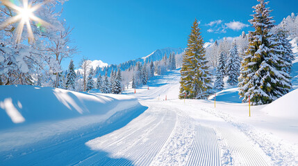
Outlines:
{"type": "Polygon", "coordinates": [[[268,104],[288,93],[292,86],[290,76],[283,71],[286,65],[278,39],[270,33],[274,21],[271,10],[265,8],[268,2],[258,1],[253,7],[254,18],[249,20],[255,30],[249,32],[249,48],[242,60],[238,84],[242,102],[248,102],[250,96],[253,105],[268,104]]]}

